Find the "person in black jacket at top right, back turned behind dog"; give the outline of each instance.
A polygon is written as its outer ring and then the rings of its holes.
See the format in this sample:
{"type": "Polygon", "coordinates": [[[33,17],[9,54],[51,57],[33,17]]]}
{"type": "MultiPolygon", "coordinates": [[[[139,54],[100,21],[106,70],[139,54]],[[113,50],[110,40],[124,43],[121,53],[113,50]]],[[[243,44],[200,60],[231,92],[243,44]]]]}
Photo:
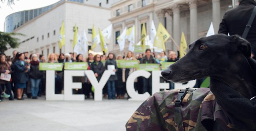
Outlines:
{"type": "MultiPolygon", "coordinates": [[[[253,8],[256,6],[254,0],[239,0],[239,6],[227,11],[220,23],[219,34],[240,35],[242,36],[244,29],[251,17],[253,8]]],[[[246,40],[251,43],[253,54],[256,54],[256,17],[253,20],[251,29],[248,32],[246,40]]]]}

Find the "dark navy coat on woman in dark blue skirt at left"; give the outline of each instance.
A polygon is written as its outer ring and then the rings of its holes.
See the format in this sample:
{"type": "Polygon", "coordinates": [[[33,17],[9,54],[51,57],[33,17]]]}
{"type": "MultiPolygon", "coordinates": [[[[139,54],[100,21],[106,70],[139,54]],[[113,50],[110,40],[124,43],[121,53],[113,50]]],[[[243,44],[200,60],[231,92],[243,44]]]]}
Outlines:
{"type": "Polygon", "coordinates": [[[28,73],[25,73],[27,68],[21,64],[21,60],[17,60],[14,63],[14,81],[17,83],[26,83],[28,81],[28,73]]]}

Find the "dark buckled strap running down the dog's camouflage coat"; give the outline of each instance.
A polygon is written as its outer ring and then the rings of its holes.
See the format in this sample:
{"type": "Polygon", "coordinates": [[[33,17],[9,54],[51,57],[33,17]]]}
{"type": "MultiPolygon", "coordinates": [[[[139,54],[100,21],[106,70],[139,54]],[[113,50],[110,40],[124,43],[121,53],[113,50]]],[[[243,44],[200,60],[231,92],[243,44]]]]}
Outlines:
{"type": "MultiPolygon", "coordinates": [[[[177,124],[178,130],[185,131],[185,126],[183,124],[182,120],[182,113],[180,110],[180,105],[182,105],[182,100],[186,96],[187,92],[193,92],[197,88],[186,88],[186,89],[181,89],[180,92],[178,93],[177,100],[175,101],[175,113],[174,113],[174,123],[177,124]]],[[[176,125],[175,125],[176,126],[176,125]]]]}

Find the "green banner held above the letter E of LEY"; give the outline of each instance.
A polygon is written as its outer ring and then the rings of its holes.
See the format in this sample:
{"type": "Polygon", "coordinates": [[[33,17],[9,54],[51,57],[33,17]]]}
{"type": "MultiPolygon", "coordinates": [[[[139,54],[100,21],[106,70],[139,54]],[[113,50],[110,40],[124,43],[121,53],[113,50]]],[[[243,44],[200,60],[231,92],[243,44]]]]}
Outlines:
{"type": "Polygon", "coordinates": [[[65,70],[87,70],[87,62],[65,62],[65,70]]]}

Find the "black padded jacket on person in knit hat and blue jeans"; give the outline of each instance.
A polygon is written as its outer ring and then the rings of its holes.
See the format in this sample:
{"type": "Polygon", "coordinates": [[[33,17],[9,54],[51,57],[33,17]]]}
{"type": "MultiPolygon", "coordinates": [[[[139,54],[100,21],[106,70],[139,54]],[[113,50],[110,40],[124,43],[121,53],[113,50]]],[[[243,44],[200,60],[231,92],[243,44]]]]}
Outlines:
{"type": "Polygon", "coordinates": [[[43,76],[43,71],[39,71],[39,62],[36,64],[33,64],[35,62],[30,62],[30,72],[29,77],[32,79],[41,79],[43,76]]]}

